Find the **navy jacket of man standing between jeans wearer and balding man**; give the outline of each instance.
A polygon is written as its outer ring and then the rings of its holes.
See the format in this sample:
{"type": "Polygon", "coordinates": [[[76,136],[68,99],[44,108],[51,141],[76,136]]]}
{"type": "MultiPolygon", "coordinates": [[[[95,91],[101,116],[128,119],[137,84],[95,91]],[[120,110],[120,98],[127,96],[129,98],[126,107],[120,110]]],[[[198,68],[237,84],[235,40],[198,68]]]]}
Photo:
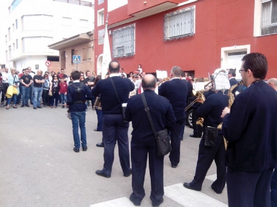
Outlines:
{"type": "Polygon", "coordinates": [[[130,91],[134,90],[134,84],[128,78],[122,78],[119,76],[112,77],[120,99],[120,101],[118,101],[110,79],[111,78],[107,78],[98,81],[92,88],[91,93],[94,97],[101,94],[103,114],[121,114],[121,104],[127,103],[130,91]]]}

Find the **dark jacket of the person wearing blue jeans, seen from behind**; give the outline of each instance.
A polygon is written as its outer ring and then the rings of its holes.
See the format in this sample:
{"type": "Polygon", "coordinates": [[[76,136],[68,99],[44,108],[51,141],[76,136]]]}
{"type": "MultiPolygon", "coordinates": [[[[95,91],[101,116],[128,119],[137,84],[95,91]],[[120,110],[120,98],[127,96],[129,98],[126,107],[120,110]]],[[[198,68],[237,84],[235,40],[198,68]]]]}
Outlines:
{"type": "Polygon", "coordinates": [[[71,85],[69,85],[67,87],[67,102],[66,104],[69,106],[69,111],[72,112],[72,111],[86,111],[87,109],[87,106],[85,104],[85,101],[86,100],[91,100],[93,97],[91,95],[91,90],[89,89],[89,87],[86,85],[86,84],[82,84],[82,90],[81,90],[81,93],[78,93],[76,91],[76,88],[72,85],[75,85],[75,86],[81,86],[81,83],[80,82],[75,82],[75,83],[72,83],[71,85]],[[76,101],[78,102],[83,102],[83,103],[76,103],[76,101]]]}

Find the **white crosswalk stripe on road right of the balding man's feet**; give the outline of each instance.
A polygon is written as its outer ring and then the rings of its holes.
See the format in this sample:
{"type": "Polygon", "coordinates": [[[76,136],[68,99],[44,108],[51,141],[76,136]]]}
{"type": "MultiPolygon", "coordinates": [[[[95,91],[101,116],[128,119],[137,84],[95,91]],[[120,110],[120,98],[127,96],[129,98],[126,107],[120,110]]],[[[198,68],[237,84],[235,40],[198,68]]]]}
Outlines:
{"type": "Polygon", "coordinates": [[[185,207],[228,207],[225,203],[207,196],[204,193],[184,188],[182,183],[167,186],[164,189],[167,197],[185,207]]]}

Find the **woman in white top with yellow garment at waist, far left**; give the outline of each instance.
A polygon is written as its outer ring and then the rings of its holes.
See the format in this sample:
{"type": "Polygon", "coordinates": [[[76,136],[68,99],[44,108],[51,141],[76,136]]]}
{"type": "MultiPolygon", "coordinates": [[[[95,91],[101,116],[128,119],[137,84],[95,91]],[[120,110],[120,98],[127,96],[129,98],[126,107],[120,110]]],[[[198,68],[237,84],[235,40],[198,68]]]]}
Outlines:
{"type": "Polygon", "coordinates": [[[11,74],[8,75],[8,83],[9,87],[7,89],[6,97],[8,98],[7,101],[7,108],[10,108],[11,100],[13,99],[13,108],[16,107],[16,98],[17,94],[19,94],[19,77],[15,74],[16,70],[14,67],[11,68],[11,74]]]}

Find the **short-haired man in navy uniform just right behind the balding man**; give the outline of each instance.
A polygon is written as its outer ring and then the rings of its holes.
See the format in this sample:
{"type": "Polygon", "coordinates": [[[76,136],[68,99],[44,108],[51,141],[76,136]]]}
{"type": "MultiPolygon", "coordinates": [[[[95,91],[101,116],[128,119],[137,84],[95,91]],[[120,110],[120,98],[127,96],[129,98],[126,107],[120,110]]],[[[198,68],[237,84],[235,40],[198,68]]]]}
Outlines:
{"type": "Polygon", "coordinates": [[[176,168],[180,162],[180,133],[182,125],[186,121],[185,108],[187,106],[188,85],[180,79],[181,73],[181,67],[172,67],[170,72],[171,81],[166,81],[159,87],[159,95],[170,101],[176,118],[176,123],[170,130],[172,150],[169,159],[172,168],[176,168]]]}

